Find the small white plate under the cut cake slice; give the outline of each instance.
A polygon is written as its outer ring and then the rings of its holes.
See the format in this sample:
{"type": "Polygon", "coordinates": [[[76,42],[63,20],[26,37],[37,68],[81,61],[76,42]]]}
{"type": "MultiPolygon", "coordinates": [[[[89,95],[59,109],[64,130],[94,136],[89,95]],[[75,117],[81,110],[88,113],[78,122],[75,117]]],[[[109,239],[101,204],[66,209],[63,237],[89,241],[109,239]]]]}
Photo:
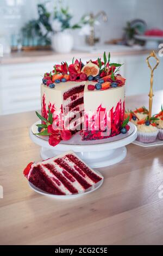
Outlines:
{"type": "MultiPolygon", "coordinates": [[[[98,174],[101,174],[99,173],[97,170],[96,170],[96,173],[98,174]]],[[[85,194],[89,194],[95,190],[97,190],[99,187],[102,186],[103,184],[103,181],[104,181],[104,178],[97,182],[95,185],[93,185],[92,187],[88,188],[85,192],[83,193],[79,193],[79,194],[68,194],[68,195],[65,195],[65,196],[60,196],[60,195],[57,195],[57,194],[49,194],[43,190],[40,190],[40,188],[37,188],[35,187],[31,182],[28,181],[29,183],[29,186],[30,188],[32,188],[32,190],[34,190],[36,193],[39,193],[39,194],[43,194],[43,196],[47,196],[47,197],[51,197],[51,198],[55,198],[55,199],[70,199],[70,198],[77,198],[77,197],[81,197],[81,196],[84,196],[85,194]]]]}

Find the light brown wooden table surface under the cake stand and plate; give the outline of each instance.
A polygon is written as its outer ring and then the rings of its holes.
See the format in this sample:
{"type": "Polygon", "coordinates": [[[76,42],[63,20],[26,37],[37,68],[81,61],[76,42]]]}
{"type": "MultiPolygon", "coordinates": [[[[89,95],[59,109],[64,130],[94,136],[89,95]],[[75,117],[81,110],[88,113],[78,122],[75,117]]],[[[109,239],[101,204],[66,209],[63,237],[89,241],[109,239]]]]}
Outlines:
{"type": "MultiPolygon", "coordinates": [[[[127,107],[148,106],[148,96],[128,97],[127,107]]],[[[153,113],[163,91],[155,93],[153,113]]],[[[78,199],[54,200],[32,191],[22,172],[40,160],[28,130],[34,112],[1,116],[1,245],[163,244],[163,146],[127,146],[126,159],[99,169],[104,184],[78,199]]]]}

